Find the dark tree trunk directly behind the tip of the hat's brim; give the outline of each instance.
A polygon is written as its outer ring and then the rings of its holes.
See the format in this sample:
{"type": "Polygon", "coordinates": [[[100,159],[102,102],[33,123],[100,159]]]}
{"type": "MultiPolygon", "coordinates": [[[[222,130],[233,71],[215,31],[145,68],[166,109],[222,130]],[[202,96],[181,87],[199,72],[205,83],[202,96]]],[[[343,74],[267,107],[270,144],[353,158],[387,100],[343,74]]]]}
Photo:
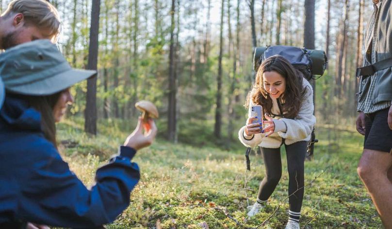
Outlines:
{"type": "MultiPolygon", "coordinates": [[[[100,0],[95,0],[91,7],[90,45],[87,69],[97,70],[98,33],[100,0]]],[[[84,131],[97,135],[97,75],[87,80],[86,109],[84,111],[84,131]]]]}

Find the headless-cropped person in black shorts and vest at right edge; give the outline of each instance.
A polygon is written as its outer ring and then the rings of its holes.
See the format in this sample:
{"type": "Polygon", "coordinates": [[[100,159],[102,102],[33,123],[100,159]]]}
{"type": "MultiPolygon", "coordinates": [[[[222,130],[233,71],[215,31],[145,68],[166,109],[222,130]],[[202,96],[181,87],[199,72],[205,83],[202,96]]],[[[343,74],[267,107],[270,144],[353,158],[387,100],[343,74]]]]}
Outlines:
{"type": "Polygon", "coordinates": [[[357,171],[384,227],[392,229],[392,0],[373,0],[373,3],[374,13],[364,40],[364,66],[376,66],[387,59],[390,64],[375,72],[361,69],[359,74],[362,77],[356,124],[365,139],[357,171]]]}

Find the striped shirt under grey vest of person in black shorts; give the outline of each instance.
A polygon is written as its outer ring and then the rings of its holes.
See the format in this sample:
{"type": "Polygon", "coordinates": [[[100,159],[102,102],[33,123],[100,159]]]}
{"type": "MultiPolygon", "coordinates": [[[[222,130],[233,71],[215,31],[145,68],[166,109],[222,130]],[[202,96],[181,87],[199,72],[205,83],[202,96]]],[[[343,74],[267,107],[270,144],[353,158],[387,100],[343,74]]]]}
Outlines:
{"type": "MultiPolygon", "coordinates": [[[[380,1],[381,2],[381,1],[380,1]]],[[[376,40],[377,39],[373,39],[373,37],[376,37],[376,27],[377,27],[377,23],[378,23],[378,18],[376,17],[376,14],[378,13],[378,6],[380,5],[380,3],[378,3],[377,5],[375,4],[375,12],[372,15],[367,29],[366,29],[366,36],[365,36],[365,48],[367,48],[366,50],[366,54],[363,58],[363,63],[365,65],[369,65],[371,63],[375,63],[376,60],[376,40]],[[370,42],[372,43],[372,46],[370,45],[370,42]]],[[[368,86],[368,90],[366,92],[364,92],[364,94],[361,94],[361,92],[359,92],[359,97],[358,97],[358,107],[357,110],[360,112],[363,112],[365,114],[369,114],[369,113],[374,113],[376,111],[385,109],[385,108],[389,108],[391,107],[391,101],[381,101],[378,102],[376,104],[373,104],[372,100],[373,100],[373,92],[376,86],[376,77],[377,74],[373,74],[372,76],[366,77],[365,79],[360,80],[360,88],[364,88],[364,85],[370,84],[368,86]],[[364,96],[363,99],[361,99],[364,96]]],[[[391,89],[392,90],[392,89],[391,89]]]]}

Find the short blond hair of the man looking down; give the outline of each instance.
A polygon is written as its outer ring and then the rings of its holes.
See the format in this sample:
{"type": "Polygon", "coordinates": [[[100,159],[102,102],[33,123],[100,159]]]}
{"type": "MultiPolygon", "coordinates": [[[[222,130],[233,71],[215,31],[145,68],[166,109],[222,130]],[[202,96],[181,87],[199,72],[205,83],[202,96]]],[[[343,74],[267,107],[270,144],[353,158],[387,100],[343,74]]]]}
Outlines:
{"type": "Polygon", "coordinates": [[[21,13],[26,25],[48,29],[49,36],[55,40],[60,33],[60,18],[56,8],[45,0],[13,0],[2,16],[21,13]]]}

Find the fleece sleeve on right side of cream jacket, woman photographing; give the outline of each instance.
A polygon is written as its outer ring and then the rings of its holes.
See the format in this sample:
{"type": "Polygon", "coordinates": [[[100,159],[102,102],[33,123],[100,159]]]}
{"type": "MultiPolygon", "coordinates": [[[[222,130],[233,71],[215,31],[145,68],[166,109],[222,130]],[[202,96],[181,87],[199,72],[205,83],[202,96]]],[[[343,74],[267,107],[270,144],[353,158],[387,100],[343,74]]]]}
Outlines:
{"type": "Polygon", "coordinates": [[[278,132],[278,135],[285,139],[305,139],[310,136],[316,123],[313,110],[313,90],[310,84],[307,83],[305,99],[302,101],[297,117],[294,119],[280,119],[286,124],[287,130],[286,132],[278,132]]]}

